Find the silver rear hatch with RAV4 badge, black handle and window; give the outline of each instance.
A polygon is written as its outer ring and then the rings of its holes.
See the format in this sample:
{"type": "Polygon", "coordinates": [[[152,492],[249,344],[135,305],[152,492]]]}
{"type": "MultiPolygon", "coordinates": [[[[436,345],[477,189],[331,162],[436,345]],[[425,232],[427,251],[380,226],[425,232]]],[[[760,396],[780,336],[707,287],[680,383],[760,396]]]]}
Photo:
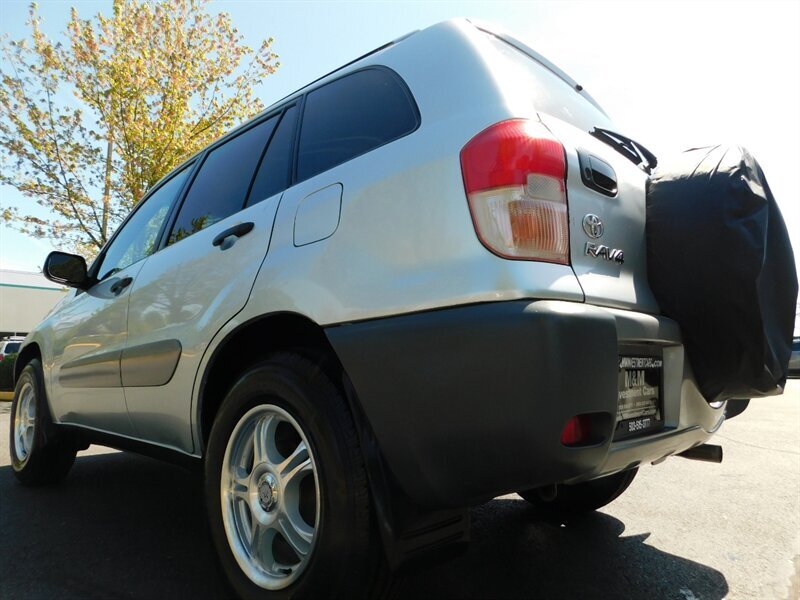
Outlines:
{"type": "Polygon", "coordinates": [[[615,131],[608,116],[544,57],[507,36],[489,39],[508,66],[513,101],[532,103],[564,146],[570,262],[586,302],[658,312],[645,262],[646,150],[603,133],[615,131]]]}

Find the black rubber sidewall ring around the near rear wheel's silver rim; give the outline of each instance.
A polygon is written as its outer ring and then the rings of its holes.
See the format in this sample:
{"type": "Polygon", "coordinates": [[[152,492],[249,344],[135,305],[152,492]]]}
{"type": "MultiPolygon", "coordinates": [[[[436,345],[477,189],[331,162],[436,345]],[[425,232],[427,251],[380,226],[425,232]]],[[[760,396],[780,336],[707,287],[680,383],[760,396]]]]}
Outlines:
{"type": "Polygon", "coordinates": [[[204,495],[212,540],[234,591],[243,598],[293,598],[331,595],[347,572],[355,525],[355,507],[349,494],[350,457],[338,439],[336,414],[326,394],[335,388],[321,373],[316,384],[279,363],[263,363],[242,376],[228,393],[209,437],[204,465],[204,495]],[[327,385],[326,385],[327,384],[327,385]],[[309,563],[297,581],[282,590],[266,590],[240,569],[228,544],[222,521],[220,477],[225,449],[234,427],[250,409],[273,404],[287,411],[303,430],[316,462],[320,493],[319,525],[309,563]],[[330,518],[336,515],[335,519],[330,518]],[[325,587],[319,587],[324,582],[325,587]]]}

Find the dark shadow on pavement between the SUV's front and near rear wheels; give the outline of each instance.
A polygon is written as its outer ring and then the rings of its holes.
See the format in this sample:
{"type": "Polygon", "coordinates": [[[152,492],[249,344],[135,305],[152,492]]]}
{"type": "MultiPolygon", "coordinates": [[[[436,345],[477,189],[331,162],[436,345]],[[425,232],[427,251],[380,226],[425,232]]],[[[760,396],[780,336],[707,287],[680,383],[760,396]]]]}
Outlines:
{"type": "Polygon", "coordinates": [[[0,469],[0,597],[228,595],[205,528],[200,477],[133,454],[79,456],[63,484],[0,469]]]}

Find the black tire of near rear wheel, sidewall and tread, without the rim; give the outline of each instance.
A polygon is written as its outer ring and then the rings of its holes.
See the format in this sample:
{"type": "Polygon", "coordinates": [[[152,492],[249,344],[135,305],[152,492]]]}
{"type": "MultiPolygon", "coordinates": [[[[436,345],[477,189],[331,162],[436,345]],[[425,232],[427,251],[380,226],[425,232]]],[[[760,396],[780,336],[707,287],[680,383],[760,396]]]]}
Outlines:
{"type": "MultiPolygon", "coordinates": [[[[254,461],[251,471],[255,470],[254,461]]],[[[370,513],[367,474],[356,426],[347,401],[315,363],[294,354],[277,354],[239,377],[214,420],[204,475],[211,537],[222,570],[239,597],[363,598],[381,595],[388,589],[384,554],[370,513]],[[257,585],[243,571],[231,549],[221,485],[223,469],[229,469],[225,462],[229,440],[254,410],[274,407],[294,419],[310,446],[317,473],[319,509],[312,550],[305,565],[286,587],[269,590],[257,585]]],[[[254,476],[248,477],[253,480],[254,476]]],[[[283,494],[281,490],[276,497],[288,498],[288,492],[283,494]]],[[[248,502],[245,504],[249,507],[248,502]]],[[[255,519],[253,510],[252,507],[245,510],[251,515],[251,522],[255,519]]]]}

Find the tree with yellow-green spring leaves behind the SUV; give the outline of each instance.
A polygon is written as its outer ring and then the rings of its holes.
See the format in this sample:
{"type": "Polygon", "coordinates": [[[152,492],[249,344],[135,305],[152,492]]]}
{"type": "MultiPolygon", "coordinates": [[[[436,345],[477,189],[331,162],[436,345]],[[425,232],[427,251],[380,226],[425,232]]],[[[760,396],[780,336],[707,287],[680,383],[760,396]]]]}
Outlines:
{"type": "Polygon", "coordinates": [[[253,87],[278,68],[273,40],[243,43],[209,0],[114,0],[109,16],[72,9],[63,43],[41,29],[3,40],[0,183],[31,205],[10,226],[93,255],[154,183],[263,107],[253,87]]]}

